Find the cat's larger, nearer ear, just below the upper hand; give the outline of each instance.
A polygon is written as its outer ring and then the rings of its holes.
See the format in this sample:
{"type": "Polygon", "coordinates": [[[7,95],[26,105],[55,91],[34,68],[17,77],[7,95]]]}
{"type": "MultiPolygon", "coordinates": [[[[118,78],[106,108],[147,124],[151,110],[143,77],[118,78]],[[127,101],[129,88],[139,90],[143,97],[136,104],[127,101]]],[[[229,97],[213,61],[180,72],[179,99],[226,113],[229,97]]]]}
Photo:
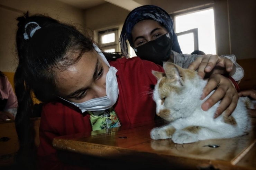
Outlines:
{"type": "Polygon", "coordinates": [[[183,68],[170,62],[164,62],[163,68],[167,78],[174,79],[183,85],[183,68]]]}

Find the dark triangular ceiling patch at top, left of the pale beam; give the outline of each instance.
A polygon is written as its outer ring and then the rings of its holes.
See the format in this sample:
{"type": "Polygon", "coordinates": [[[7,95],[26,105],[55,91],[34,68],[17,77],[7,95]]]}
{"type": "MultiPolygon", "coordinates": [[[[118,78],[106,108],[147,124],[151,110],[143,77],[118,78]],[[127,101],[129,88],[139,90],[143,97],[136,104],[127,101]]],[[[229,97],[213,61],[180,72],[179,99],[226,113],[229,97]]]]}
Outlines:
{"type": "Polygon", "coordinates": [[[88,9],[106,3],[104,0],[58,0],[80,9],[88,9]]]}

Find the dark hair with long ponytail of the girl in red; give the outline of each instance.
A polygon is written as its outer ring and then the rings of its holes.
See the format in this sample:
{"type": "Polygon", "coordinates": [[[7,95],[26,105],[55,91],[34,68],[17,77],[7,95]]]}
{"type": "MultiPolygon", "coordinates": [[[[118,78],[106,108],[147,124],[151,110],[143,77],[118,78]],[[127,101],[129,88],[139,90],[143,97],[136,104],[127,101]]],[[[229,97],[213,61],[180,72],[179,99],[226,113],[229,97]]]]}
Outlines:
{"type": "Polygon", "coordinates": [[[20,148],[16,155],[19,169],[36,169],[37,156],[33,116],[33,97],[41,102],[56,100],[56,71],[65,70],[80,60],[73,51],[93,50],[93,40],[74,26],[50,17],[28,12],[17,18],[16,45],[18,67],[14,76],[18,110],[15,119],[20,148]]]}

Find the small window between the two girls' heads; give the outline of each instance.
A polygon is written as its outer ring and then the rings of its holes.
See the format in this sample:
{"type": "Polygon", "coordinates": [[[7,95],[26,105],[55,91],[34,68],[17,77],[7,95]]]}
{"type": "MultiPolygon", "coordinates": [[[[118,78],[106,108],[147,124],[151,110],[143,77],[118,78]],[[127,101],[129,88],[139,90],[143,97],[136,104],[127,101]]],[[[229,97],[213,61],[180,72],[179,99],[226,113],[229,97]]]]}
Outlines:
{"type": "Polygon", "coordinates": [[[99,31],[99,43],[105,52],[117,52],[118,49],[118,29],[99,31]]]}

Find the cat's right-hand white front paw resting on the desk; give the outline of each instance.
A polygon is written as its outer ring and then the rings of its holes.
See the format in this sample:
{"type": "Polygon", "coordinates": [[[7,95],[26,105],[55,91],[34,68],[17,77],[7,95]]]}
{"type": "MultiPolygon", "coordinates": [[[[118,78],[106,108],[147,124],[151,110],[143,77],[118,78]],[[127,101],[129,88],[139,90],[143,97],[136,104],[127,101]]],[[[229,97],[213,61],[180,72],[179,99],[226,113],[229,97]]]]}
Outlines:
{"type": "Polygon", "coordinates": [[[188,144],[199,141],[196,134],[186,131],[176,131],[172,136],[172,141],[176,144],[188,144]]]}

